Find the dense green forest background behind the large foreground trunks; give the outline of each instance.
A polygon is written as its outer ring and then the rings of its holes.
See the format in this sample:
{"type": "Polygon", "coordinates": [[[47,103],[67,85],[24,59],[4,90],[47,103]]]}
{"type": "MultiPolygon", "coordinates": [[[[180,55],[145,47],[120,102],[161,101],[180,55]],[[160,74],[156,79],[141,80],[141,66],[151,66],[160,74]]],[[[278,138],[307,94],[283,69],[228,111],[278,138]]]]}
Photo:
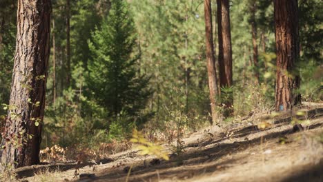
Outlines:
{"type": "MultiPolygon", "coordinates": [[[[17,2],[0,2],[3,126],[17,2]]],[[[212,4],[216,7],[216,1],[212,4]]],[[[303,101],[323,97],[317,92],[323,83],[322,9],[320,0],[299,1],[297,68],[303,101]]],[[[217,55],[216,11],[213,8],[217,55]]],[[[275,102],[273,2],[231,1],[230,18],[233,86],[219,90],[233,93],[234,112],[226,115],[219,107],[218,125],[250,112],[268,112],[275,102]]],[[[210,123],[203,1],[52,0],[50,23],[42,148],[54,144],[99,148],[98,143],[128,139],[133,128],[145,130],[148,136],[164,134],[167,139],[210,123]]]]}

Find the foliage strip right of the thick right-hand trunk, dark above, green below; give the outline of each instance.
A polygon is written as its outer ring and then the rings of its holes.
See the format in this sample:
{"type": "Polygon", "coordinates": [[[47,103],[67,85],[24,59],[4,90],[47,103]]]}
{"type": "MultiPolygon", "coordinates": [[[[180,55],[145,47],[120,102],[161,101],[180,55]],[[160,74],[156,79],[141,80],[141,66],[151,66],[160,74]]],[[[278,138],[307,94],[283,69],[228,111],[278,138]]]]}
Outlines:
{"type": "Polygon", "coordinates": [[[300,64],[301,88],[304,101],[322,101],[323,2],[300,1],[300,64]],[[320,37],[320,38],[319,38],[320,37]]]}

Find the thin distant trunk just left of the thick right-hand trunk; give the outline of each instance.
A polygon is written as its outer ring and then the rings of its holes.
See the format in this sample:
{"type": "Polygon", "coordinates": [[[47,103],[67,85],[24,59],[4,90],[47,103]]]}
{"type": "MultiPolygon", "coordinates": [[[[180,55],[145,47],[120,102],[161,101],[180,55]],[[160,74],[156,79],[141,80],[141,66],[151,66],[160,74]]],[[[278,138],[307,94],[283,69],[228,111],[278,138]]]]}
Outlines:
{"type": "Polygon", "coordinates": [[[255,72],[256,84],[259,84],[259,64],[258,64],[258,46],[257,46],[257,26],[255,22],[255,12],[257,10],[257,1],[251,1],[251,34],[253,36],[253,71],[255,72]]]}

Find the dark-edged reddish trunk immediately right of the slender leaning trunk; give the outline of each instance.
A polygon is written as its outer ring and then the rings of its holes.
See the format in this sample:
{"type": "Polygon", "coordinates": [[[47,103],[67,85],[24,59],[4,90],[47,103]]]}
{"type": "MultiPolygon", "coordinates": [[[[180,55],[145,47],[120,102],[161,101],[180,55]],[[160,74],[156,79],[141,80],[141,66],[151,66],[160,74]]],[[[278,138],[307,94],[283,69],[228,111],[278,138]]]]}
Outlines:
{"type": "MultiPolygon", "coordinates": [[[[221,88],[231,88],[232,79],[232,48],[231,48],[231,28],[230,10],[228,0],[217,0],[217,34],[219,39],[219,81],[221,88]]],[[[233,92],[221,93],[222,103],[226,111],[224,117],[233,113],[233,92]]]]}

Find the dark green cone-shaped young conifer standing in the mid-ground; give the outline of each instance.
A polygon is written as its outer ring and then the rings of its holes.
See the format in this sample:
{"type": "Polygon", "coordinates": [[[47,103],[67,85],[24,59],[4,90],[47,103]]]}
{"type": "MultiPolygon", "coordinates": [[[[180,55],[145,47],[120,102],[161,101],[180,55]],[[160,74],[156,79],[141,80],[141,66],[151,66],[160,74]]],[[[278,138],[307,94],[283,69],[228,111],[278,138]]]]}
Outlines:
{"type": "Polygon", "coordinates": [[[111,1],[101,28],[89,41],[88,85],[95,100],[114,117],[121,111],[134,116],[150,94],[147,77],[136,75],[139,55],[134,52],[135,45],[135,27],[126,1],[111,1]]]}

